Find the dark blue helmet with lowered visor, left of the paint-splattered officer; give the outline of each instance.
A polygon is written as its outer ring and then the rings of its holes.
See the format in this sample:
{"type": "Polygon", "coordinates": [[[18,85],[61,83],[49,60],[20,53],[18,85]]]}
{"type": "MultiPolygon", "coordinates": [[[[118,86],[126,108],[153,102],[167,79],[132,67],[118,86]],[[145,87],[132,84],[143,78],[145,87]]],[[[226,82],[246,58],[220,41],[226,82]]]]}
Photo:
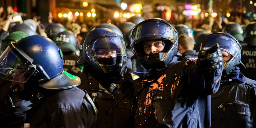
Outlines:
{"type": "Polygon", "coordinates": [[[108,28],[96,28],[85,38],[78,64],[88,64],[98,75],[120,74],[128,60],[124,39],[108,28]]]}

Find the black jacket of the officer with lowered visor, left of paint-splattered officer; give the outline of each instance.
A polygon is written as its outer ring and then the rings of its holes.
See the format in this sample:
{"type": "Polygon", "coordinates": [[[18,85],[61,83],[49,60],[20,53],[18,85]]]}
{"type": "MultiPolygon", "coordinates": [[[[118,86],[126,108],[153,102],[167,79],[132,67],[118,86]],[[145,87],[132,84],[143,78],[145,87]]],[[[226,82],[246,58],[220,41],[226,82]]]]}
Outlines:
{"type": "Polygon", "coordinates": [[[134,127],[132,100],[135,92],[131,81],[120,76],[117,80],[119,88],[111,94],[88,71],[79,77],[82,83],[78,88],[85,89],[90,96],[93,92],[97,93],[98,120],[93,128],[134,127]]]}

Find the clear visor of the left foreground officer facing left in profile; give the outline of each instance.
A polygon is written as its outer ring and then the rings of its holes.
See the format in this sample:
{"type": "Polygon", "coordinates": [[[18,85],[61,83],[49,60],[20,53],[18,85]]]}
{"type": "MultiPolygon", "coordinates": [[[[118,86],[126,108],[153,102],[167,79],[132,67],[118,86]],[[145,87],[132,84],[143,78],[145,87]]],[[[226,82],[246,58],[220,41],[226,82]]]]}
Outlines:
{"type": "Polygon", "coordinates": [[[35,72],[36,66],[17,55],[8,46],[0,56],[0,78],[25,83],[35,72]]]}

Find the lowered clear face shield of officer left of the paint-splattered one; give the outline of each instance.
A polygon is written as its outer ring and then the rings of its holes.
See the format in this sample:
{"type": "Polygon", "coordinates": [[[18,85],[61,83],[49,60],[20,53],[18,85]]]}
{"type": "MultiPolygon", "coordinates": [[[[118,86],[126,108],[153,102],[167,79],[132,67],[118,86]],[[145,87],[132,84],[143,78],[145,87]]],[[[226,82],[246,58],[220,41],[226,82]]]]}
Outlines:
{"type": "Polygon", "coordinates": [[[102,65],[119,65],[122,60],[128,60],[124,40],[117,35],[98,38],[86,47],[86,54],[90,61],[96,60],[102,65]]]}

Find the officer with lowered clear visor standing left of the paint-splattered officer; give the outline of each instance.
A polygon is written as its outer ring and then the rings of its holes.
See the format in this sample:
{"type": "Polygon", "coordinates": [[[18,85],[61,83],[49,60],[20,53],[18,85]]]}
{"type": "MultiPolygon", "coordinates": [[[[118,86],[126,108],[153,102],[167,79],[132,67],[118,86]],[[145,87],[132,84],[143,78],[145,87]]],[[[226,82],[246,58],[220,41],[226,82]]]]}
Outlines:
{"type": "Polygon", "coordinates": [[[83,55],[78,60],[78,64],[85,64],[78,88],[89,95],[97,93],[98,120],[94,128],[134,127],[133,84],[120,75],[127,59],[124,39],[112,30],[96,28],[86,36],[83,55]]]}

